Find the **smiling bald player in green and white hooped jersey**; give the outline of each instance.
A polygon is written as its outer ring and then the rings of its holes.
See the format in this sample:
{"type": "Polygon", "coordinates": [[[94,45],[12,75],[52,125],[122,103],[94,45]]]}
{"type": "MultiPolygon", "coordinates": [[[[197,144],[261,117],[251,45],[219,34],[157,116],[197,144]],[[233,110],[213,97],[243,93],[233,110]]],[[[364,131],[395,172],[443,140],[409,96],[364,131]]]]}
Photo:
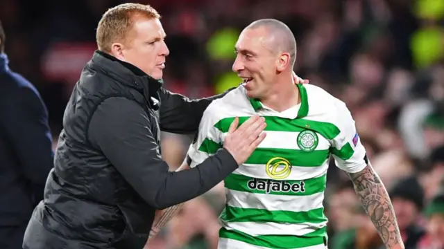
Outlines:
{"type": "Polygon", "coordinates": [[[266,137],[225,178],[219,249],[327,248],[323,210],[329,158],[348,173],[387,248],[404,248],[391,201],[373,171],[345,104],[313,85],[294,84],[296,40],[287,25],[261,19],[236,44],[243,84],[207,107],[182,168],[223,146],[230,124],[266,120],[266,137]]]}

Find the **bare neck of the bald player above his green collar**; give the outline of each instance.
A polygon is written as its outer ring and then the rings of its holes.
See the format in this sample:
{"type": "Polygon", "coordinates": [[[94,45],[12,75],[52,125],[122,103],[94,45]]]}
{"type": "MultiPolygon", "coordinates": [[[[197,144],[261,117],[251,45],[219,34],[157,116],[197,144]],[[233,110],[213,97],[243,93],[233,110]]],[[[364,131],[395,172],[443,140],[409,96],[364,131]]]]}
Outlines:
{"type": "Polygon", "coordinates": [[[266,98],[262,98],[261,102],[266,107],[275,111],[285,111],[300,103],[299,89],[293,83],[293,77],[290,75],[282,75],[281,80],[273,84],[273,88],[267,94],[266,98]]]}

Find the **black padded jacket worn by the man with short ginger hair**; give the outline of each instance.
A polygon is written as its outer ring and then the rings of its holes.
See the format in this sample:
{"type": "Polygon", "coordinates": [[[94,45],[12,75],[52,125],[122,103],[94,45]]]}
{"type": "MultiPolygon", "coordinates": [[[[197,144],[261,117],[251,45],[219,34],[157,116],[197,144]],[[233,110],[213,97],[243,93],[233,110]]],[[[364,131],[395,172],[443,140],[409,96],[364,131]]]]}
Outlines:
{"type": "Polygon", "coordinates": [[[24,248],[142,248],[155,210],[207,192],[237,168],[225,149],[182,172],[169,172],[160,156],[160,130],[196,131],[210,102],[170,93],[135,66],[94,53],[67,105],[24,248]]]}

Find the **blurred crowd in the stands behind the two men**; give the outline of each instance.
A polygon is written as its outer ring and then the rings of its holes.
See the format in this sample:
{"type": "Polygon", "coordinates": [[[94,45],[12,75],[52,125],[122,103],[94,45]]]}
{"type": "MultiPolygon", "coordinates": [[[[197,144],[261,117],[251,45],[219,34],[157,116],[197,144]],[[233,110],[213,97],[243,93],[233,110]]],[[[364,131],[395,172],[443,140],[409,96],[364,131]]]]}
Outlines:
{"type": "MultiPolygon", "coordinates": [[[[65,105],[95,46],[105,10],[123,1],[0,0],[10,66],[40,91],[54,144],[65,105]]],[[[190,98],[220,93],[234,44],[255,19],[284,21],[296,36],[295,71],[352,111],[361,141],[393,201],[404,242],[444,248],[444,1],[151,0],[171,50],[165,87],[190,98]]],[[[162,134],[176,169],[189,137],[162,134]]],[[[158,235],[153,248],[216,248],[223,185],[198,199],[158,235]]],[[[348,178],[331,164],[325,193],[332,249],[384,248],[348,178]]]]}

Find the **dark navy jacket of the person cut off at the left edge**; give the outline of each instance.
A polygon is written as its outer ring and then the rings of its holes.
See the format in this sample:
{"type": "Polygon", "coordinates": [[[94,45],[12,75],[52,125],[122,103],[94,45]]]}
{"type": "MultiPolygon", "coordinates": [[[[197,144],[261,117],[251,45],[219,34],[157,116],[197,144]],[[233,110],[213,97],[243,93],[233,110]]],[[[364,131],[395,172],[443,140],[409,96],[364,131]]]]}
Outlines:
{"type": "Polygon", "coordinates": [[[52,138],[42,98],[28,80],[8,68],[8,57],[0,53],[0,229],[26,225],[43,199],[52,168],[52,138]]]}

